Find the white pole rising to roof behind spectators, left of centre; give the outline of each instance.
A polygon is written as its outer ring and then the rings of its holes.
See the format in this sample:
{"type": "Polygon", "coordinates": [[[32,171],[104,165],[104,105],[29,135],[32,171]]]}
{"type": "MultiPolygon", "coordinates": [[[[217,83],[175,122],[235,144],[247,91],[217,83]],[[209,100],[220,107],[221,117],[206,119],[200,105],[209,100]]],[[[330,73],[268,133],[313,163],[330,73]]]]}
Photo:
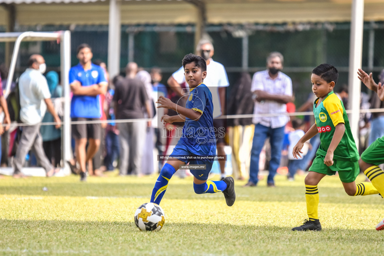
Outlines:
{"type": "Polygon", "coordinates": [[[109,1],[108,72],[113,78],[120,73],[121,0],[109,1]]]}

